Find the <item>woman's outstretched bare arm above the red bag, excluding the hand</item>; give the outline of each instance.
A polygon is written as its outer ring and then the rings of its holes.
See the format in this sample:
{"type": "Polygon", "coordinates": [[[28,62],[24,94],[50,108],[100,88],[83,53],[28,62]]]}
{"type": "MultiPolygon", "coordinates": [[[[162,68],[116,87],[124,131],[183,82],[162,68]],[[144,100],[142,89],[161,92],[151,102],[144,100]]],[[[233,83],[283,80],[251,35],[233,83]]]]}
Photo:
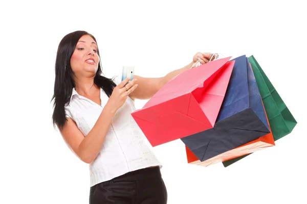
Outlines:
{"type": "Polygon", "coordinates": [[[149,99],[155,95],[169,80],[176,77],[183,71],[189,70],[194,62],[189,63],[181,69],[177,69],[169,72],[164,77],[161,78],[143,78],[138,75],[134,76],[137,79],[138,88],[129,94],[132,99],[149,99]]]}

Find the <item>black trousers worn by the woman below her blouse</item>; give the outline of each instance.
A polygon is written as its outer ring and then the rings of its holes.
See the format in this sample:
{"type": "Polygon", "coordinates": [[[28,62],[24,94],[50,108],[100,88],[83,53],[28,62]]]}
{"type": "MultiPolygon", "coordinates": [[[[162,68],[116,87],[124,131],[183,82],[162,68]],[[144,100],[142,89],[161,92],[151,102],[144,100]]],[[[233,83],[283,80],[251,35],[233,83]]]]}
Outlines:
{"type": "Polygon", "coordinates": [[[165,204],[167,190],[160,167],[128,172],[91,187],[90,204],[165,204]]]}

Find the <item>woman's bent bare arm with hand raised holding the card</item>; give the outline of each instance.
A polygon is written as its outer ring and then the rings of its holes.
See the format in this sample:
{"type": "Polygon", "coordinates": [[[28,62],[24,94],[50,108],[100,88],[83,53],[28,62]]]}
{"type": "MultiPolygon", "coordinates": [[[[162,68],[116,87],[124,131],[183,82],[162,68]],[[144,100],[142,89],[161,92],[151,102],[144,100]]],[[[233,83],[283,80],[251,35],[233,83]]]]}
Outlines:
{"type": "MultiPolygon", "coordinates": [[[[90,164],[99,154],[116,111],[122,107],[128,97],[127,90],[124,88],[127,82],[128,80],[126,79],[114,88],[99,118],[86,137],[83,136],[71,118],[68,118],[61,130],[64,141],[83,162],[90,164]]],[[[135,81],[131,81],[129,84],[129,91],[133,92],[138,86],[134,83],[135,81]]]]}

